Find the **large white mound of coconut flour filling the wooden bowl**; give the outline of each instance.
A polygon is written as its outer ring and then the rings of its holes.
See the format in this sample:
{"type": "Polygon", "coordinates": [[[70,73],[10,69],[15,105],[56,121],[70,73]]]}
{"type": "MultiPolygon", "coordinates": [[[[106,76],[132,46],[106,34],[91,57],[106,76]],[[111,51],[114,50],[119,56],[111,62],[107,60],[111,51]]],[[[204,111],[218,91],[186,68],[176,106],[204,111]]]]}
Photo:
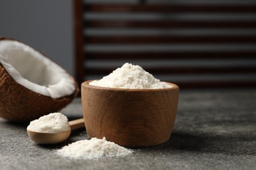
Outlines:
{"type": "Polygon", "coordinates": [[[122,67],[114,70],[110,75],[104,76],[100,80],[89,82],[93,86],[107,88],[126,88],[126,89],[158,89],[171,88],[170,84],[160,82],[150,73],[144,71],[139,65],[125,63],[122,67]]]}

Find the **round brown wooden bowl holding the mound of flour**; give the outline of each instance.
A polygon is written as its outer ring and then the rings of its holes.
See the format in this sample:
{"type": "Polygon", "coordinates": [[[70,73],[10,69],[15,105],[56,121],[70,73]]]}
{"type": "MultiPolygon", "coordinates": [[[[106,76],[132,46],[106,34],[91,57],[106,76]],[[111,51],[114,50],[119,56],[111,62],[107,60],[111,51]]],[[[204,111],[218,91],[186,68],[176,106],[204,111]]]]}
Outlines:
{"type": "Polygon", "coordinates": [[[152,146],[169,140],[179,86],[165,89],[104,88],[81,84],[83,118],[90,137],[121,146],[152,146]]]}

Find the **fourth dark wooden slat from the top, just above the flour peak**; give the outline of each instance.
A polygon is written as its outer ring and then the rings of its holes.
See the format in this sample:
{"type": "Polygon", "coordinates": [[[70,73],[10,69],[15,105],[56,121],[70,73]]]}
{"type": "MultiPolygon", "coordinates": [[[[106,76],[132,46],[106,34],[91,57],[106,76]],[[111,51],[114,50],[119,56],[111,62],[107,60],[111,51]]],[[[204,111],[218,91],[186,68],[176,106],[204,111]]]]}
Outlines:
{"type": "Polygon", "coordinates": [[[256,58],[255,51],[236,52],[85,52],[87,59],[175,59],[175,58],[256,58]]]}

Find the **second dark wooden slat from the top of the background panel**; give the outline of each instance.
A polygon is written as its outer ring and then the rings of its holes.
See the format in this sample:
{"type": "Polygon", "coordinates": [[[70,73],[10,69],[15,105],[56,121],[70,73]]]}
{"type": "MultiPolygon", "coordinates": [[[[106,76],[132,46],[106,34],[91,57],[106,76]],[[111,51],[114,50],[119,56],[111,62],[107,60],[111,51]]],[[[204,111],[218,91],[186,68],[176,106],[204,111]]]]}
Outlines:
{"type": "MultiPolygon", "coordinates": [[[[256,9],[255,9],[256,10],[256,9]]],[[[246,20],[88,20],[84,22],[85,28],[252,28],[256,27],[256,21],[246,20]]]]}

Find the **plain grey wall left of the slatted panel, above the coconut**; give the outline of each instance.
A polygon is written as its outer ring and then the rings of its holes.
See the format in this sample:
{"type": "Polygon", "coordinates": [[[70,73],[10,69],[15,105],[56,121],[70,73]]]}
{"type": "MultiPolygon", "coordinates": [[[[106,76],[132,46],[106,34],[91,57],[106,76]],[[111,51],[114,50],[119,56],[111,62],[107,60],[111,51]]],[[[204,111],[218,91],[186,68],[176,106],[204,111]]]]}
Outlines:
{"type": "Polygon", "coordinates": [[[0,37],[43,52],[74,75],[72,0],[1,0],[0,37]]]}

